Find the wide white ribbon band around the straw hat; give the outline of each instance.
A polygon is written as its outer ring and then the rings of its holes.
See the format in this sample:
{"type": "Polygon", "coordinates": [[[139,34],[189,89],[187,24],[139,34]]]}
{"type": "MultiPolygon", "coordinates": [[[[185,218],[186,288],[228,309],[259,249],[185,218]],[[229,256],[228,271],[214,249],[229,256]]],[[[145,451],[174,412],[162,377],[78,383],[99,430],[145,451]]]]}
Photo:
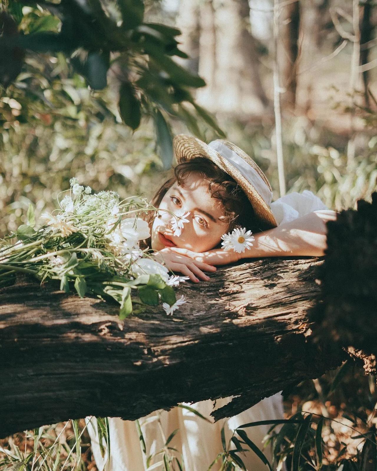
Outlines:
{"type": "Polygon", "coordinates": [[[218,152],[224,159],[231,163],[236,169],[246,178],[246,180],[256,189],[261,195],[263,200],[270,205],[272,201],[272,191],[267,186],[266,182],[262,179],[259,173],[249,165],[237,152],[229,149],[228,146],[219,142],[218,140],[212,141],[208,147],[218,152]]]}

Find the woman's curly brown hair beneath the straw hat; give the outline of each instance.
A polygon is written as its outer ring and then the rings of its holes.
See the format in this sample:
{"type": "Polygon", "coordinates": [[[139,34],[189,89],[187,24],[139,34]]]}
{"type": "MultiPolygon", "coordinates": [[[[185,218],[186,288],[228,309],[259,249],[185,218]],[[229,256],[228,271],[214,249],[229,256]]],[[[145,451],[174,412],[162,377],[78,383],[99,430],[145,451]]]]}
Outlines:
{"type": "MultiPolygon", "coordinates": [[[[205,157],[196,157],[195,159],[178,164],[174,169],[174,177],[166,180],[161,185],[152,198],[151,203],[158,208],[169,188],[176,181],[179,185],[184,183],[187,176],[192,172],[199,173],[204,181],[208,182],[211,196],[221,204],[224,215],[219,219],[226,223],[226,230],[224,232],[229,232],[235,227],[246,227],[246,229],[250,229],[253,233],[261,232],[267,228],[255,216],[253,206],[239,184],[228,173],[221,170],[215,163],[205,157]]],[[[155,217],[156,214],[152,211],[148,212],[145,217],[150,228],[152,228],[155,217]]],[[[145,243],[146,246],[150,247],[150,238],[145,243]]]]}

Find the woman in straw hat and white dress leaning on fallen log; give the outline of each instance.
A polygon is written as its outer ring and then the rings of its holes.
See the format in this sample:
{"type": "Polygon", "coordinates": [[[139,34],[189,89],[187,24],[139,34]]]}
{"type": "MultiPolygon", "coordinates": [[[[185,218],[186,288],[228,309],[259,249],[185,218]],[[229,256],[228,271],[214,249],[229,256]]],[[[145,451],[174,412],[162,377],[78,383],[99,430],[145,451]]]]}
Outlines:
{"type": "MultiPolygon", "coordinates": [[[[197,138],[179,135],[174,138],[174,153],[178,165],[175,176],[157,191],[152,203],[158,216],[149,220],[151,239],[147,244],[155,251],[156,259],[173,272],[188,276],[194,283],[210,281],[206,273],[216,265],[228,264],[241,258],[276,256],[321,256],[326,248],[326,221],[335,212],[311,192],[292,193],[274,203],[270,183],[256,163],[237,146],[224,140],[209,145],[197,138]],[[175,218],[172,218],[172,214],[175,218]],[[181,221],[180,225],[175,222],[181,221]],[[234,227],[246,227],[254,234],[252,247],[244,252],[221,249],[221,236],[234,227]]],[[[231,398],[216,401],[216,407],[231,398]]],[[[209,417],[212,400],[201,401],[191,407],[209,417]]],[[[206,471],[221,452],[221,427],[228,442],[233,430],[247,422],[277,419],[283,416],[281,395],[266,398],[250,409],[230,419],[206,422],[188,409],[175,407],[163,411],[160,420],[155,413],[142,426],[146,440],[146,455],[140,448],[135,423],[110,418],[110,461],[102,458],[96,427],[88,425],[92,450],[98,469],[111,471],[142,471],[146,456],[164,446],[170,433],[179,429],[170,445],[182,452],[186,471],[206,471]]],[[[262,448],[262,438],[268,426],[247,430],[249,437],[262,448]]],[[[264,450],[271,459],[269,450],[264,450]]],[[[251,451],[242,459],[249,471],[266,467],[251,451]]],[[[156,463],[159,457],[156,457],[156,463]]],[[[212,469],[220,467],[215,465],[212,469]]],[[[156,467],[156,470],[164,466],[156,467]]]]}

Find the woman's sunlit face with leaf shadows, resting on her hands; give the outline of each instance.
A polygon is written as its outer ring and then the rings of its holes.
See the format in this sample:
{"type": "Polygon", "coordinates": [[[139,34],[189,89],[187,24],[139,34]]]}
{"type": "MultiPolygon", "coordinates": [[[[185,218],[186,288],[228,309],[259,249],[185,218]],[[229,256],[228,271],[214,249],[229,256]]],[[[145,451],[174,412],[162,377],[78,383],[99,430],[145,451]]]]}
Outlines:
{"type": "Polygon", "coordinates": [[[179,247],[206,252],[219,244],[221,235],[227,232],[227,223],[219,221],[219,217],[224,215],[221,203],[211,196],[208,183],[196,172],[189,173],[182,185],[175,182],[169,188],[159,210],[161,217],[155,218],[151,231],[153,250],[179,247]],[[189,222],[183,224],[180,236],[173,235],[170,224],[172,214],[167,211],[175,215],[180,211],[190,213],[186,217],[189,222]]]}

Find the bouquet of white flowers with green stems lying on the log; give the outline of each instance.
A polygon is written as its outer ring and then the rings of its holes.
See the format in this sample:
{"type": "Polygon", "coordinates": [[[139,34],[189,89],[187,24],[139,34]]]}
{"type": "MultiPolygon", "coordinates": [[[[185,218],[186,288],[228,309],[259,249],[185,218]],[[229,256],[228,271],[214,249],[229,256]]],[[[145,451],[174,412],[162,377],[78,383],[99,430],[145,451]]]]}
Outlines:
{"type": "MultiPolygon", "coordinates": [[[[150,236],[148,223],[139,216],[156,211],[147,200],[131,196],[120,201],[113,191],[93,195],[90,187],[70,180],[71,188],[58,203],[59,210],[42,214],[36,228],[33,206],[27,224],[7,236],[0,245],[0,287],[16,281],[21,272],[42,282],[60,280],[60,289],[75,289],[119,302],[121,319],[132,312],[131,290],[142,303],[163,302],[167,314],[178,308],[173,286],[184,277],[169,276],[139,241],[150,236]],[[18,240],[12,244],[14,238],[18,240]]],[[[135,300],[134,300],[135,302],[135,300]]],[[[136,302],[138,302],[136,300],[136,302]]]]}

